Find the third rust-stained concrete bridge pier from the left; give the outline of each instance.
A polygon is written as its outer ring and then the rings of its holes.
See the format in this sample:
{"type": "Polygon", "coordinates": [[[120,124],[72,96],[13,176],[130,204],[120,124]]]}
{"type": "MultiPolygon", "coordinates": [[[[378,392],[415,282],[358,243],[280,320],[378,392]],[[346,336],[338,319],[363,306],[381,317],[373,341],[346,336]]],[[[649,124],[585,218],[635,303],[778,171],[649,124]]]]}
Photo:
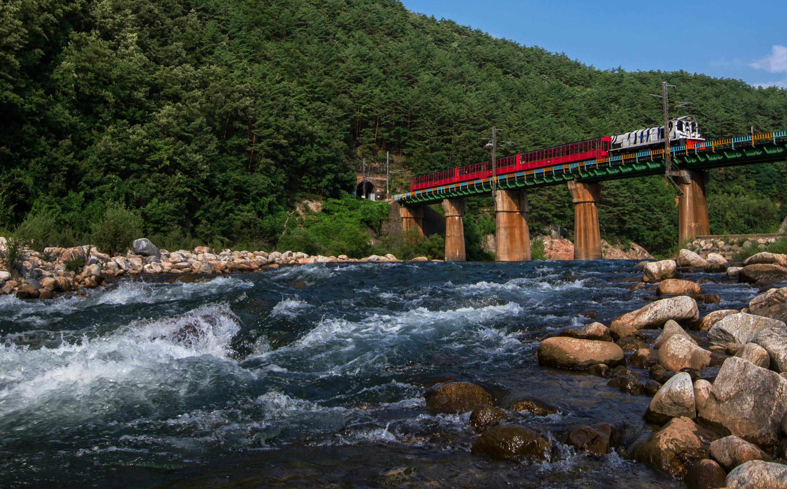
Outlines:
{"type": "Polygon", "coordinates": [[[497,190],[495,193],[495,259],[521,262],[530,259],[530,230],[527,229],[527,193],[497,190]]]}

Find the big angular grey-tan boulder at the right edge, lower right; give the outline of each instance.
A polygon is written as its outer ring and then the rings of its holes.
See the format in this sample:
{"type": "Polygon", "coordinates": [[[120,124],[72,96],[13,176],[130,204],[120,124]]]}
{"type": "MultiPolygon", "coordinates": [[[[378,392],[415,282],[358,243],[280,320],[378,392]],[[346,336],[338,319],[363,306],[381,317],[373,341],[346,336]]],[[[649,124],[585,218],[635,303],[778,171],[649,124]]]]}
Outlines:
{"type": "Polygon", "coordinates": [[[787,379],[743,358],[724,361],[700,421],[760,446],[778,442],[787,413],[787,379]]]}

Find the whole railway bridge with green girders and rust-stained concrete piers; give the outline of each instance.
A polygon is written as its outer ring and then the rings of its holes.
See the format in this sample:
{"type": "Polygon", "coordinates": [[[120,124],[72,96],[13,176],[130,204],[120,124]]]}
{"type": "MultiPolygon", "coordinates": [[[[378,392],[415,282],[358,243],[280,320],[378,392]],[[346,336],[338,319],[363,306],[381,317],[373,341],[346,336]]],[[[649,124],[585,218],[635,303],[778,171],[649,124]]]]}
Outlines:
{"type": "MultiPolygon", "coordinates": [[[[566,183],[574,201],[574,259],[600,259],[601,235],[597,204],[602,182],[645,175],[664,175],[664,149],[606,156],[530,171],[497,175],[495,241],[497,261],[530,259],[527,228],[527,189],[566,183]]],[[[710,234],[705,184],[708,169],[787,159],[787,131],[747,134],[693,145],[671,147],[672,167],[677,167],[678,242],[710,234]]],[[[393,198],[400,204],[402,228],[423,233],[423,208],[442,202],[445,210],[445,259],[464,261],[464,199],[492,192],[492,178],[434,186],[393,198]]]]}

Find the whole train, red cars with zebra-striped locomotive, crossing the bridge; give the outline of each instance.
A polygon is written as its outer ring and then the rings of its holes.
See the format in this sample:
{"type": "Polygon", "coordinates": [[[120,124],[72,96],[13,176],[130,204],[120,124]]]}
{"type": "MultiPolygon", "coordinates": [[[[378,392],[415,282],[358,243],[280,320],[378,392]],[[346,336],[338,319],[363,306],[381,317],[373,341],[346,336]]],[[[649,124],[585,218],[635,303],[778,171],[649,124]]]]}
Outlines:
{"type": "MultiPolygon", "coordinates": [[[[669,123],[668,135],[671,145],[691,146],[703,142],[700,127],[692,116],[678,117],[669,123]]],[[[567,145],[538,149],[529,153],[497,158],[495,173],[500,175],[515,171],[538,172],[545,167],[576,164],[583,160],[592,160],[614,156],[617,153],[640,151],[664,145],[664,127],[647,127],[638,131],[630,131],[616,136],[589,139],[567,145]]],[[[445,171],[436,171],[429,175],[420,175],[410,179],[410,192],[429,189],[434,186],[480,182],[492,176],[492,161],[484,161],[456,167],[445,171]]]]}

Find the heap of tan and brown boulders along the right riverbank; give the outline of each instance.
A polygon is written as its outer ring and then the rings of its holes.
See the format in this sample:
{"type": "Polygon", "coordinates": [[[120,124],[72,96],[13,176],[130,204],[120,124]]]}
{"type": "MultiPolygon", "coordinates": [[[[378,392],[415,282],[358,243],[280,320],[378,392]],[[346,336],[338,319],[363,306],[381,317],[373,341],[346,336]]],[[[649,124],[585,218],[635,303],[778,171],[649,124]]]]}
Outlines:
{"type": "Polygon", "coordinates": [[[609,325],[564,329],[536,351],[545,368],[606,377],[608,388],[651,397],[638,436],[629,433],[623,443],[626,426],[613,423],[549,432],[528,420],[556,413],[554,406],[496,399],[483,382],[452,377],[427,387],[427,407],[471,412],[468,429],[478,433],[471,453],[482,457],[550,461],[560,458],[563,443],[597,455],[615,450],[689,488],[787,488],[787,287],[780,286],[787,256],[759,253],[729,263],[684,249],[676,260],[638,269],[626,281],[656,291],[654,302],[609,325]],[[755,283],[762,293],[741,311],[702,314],[719,297],[709,301],[700,283],[680,278],[692,272],[718,274],[710,279],[717,283],[755,283]]]}

